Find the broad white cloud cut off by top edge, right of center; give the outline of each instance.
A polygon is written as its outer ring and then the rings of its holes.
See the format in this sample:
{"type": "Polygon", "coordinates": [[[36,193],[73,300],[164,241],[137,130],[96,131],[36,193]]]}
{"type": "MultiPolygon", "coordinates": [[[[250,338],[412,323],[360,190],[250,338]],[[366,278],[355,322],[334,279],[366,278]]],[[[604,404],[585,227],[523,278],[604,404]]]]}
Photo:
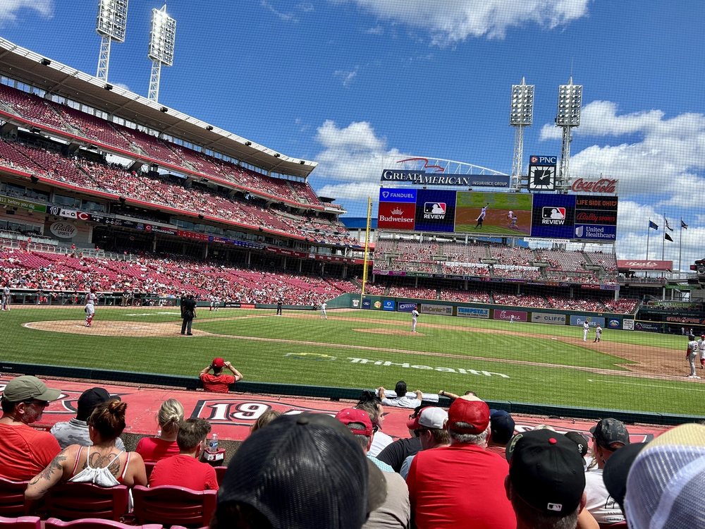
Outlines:
{"type": "Polygon", "coordinates": [[[392,23],[421,28],[431,42],[446,46],[467,37],[503,38],[508,28],[537,23],[553,29],[587,15],[589,0],[454,0],[443,8],[428,0],[331,0],[353,2],[392,23]]]}

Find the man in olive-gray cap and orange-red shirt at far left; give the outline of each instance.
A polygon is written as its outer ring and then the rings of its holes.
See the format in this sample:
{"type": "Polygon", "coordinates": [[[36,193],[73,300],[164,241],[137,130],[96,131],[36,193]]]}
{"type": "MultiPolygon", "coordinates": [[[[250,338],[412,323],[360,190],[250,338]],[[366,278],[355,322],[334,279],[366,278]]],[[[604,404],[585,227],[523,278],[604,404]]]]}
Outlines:
{"type": "Polygon", "coordinates": [[[7,383],[0,418],[0,478],[24,481],[44,470],[61,448],[49,432],[30,424],[42,418],[49,402],[61,396],[37,377],[25,375],[7,383]]]}

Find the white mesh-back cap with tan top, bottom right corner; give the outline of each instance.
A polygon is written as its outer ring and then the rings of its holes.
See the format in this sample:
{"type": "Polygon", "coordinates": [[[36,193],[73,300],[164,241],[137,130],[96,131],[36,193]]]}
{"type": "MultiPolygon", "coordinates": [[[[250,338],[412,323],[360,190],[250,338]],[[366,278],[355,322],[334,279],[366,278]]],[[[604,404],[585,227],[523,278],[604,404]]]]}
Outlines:
{"type": "Polygon", "coordinates": [[[646,445],[627,477],[630,529],[705,528],[705,425],[680,425],[646,445]]]}

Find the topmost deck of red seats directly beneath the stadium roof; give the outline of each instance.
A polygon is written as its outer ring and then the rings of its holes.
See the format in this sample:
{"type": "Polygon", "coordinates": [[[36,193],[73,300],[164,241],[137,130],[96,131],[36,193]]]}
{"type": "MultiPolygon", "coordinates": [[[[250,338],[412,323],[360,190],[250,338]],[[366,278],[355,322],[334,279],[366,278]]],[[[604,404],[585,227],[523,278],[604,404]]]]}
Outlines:
{"type": "Polygon", "coordinates": [[[257,173],[230,162],[217,159],[202,152],[183,147],[173,142],[159,140],[141,130],[111,123],[92,114],[87,114],[63,104],[42,99],[37,95],[0,85],[2,107],[9,107],[18,116],[37,125],[49,125],[66,130],[92,142],[101,142],[106,147],[118,147],[175,166],[185,172],[222,178],[235,186],[255,193],[279,197],[302,205],[321,207],[321,201],[306,182],[287,181],[257,173]]]}

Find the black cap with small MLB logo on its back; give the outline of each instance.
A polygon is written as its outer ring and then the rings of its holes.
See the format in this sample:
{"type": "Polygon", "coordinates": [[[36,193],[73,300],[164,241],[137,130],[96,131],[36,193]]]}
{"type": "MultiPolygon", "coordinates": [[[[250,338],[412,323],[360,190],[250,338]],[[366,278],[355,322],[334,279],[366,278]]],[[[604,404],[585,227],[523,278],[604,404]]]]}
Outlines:
{"type": "Polygon", "coordinates": [[[509,461],[513,493],[544,514],[574,512],[585,490],[575,442],[551,430],[532,430],[515,438],[509,461]]]}

